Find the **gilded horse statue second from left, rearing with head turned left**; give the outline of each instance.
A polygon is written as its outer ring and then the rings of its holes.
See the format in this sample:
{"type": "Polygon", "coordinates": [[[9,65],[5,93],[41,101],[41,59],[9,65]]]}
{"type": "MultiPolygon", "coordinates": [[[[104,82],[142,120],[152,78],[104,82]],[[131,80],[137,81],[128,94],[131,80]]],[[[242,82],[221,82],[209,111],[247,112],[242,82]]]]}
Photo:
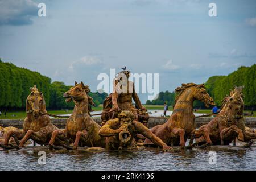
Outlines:
{"type": "MultiPolygon", "coordinates": [[[[68,118],[67,125],[64,130],[53,131],[52,138],[49,142],[50,148],[57,149],[58,140],[68,139],[73,142],[73,149],[80,146],[87,147],[104,147],[105,138],[98,135],[101,126],[96,123],[89,114],[89,104],[92,98],[88,96],[89,87],[75,82],[75,86],[63,94],[66,102],[73,101],[75,107],[73,113],[68,118]]],[[[71,147],[63,145],[67,149],[71,147]]]]}

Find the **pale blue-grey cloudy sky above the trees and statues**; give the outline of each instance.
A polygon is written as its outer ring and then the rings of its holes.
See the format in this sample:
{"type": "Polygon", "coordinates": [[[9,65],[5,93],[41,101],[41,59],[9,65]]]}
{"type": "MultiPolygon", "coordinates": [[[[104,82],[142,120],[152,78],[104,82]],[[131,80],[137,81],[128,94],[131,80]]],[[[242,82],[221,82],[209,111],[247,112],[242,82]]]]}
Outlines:
{"type": "Polygon", "coordinates": [[[0,0],[0,57],[92,91],[99,73],[126,65],[159,73],[159,89],[173,91],[255,64],[255,10],[254,0],[0,0]]]}

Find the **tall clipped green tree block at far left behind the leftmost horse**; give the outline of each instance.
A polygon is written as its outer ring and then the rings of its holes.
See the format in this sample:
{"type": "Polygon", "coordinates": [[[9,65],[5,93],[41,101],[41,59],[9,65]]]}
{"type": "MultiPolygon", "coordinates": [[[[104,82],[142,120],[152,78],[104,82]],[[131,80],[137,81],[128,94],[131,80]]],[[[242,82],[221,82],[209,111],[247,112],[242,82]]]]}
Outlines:
{"type": "MultiPolygon", "coordinates": [[[[51,79],[11,63],[0,62],[0,107],[4,109],[24,109],[29,88],[35,84],[49,98],[51,79]]],[[[49,106],[49,100],[46,100],[49,106]]]]}

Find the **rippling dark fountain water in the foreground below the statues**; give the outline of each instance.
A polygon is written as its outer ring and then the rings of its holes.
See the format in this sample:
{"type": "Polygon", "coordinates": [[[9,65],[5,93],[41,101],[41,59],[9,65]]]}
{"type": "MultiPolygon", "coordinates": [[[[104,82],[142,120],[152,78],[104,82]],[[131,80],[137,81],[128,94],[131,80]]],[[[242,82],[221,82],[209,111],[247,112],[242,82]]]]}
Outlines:
{"type": "Polygon", "coordinates": [[[47,153],[46,165],[38,164],[36,152],[0,151],[3,170],[255,170],[256,149],[216,151],[210,165],[208,150],[161,152],[65,152],[47,153]]]}

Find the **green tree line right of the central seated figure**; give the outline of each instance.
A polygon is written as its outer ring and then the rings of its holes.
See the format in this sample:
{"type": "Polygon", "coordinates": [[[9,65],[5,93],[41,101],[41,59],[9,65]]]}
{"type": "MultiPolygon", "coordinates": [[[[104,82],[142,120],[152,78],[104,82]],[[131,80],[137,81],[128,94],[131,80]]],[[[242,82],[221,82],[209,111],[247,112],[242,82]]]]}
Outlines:
{"type": "MultiPolygon", "coordinates": [[[[245,86],[243,89],[243,100],[246,109],[256,106],[256,64],[251,67],[240,67],[236,71],[230,73],[228,76],[212,76],[207,82],[205,87],[207,92],[214,99],[217,106],[221,106],[222,99],[229,94],[230,89],[234,86],[245,86]]],[[[174,104],[174,92],[160,92],[156,100],[147,100],[146,104],[163,105],[167,102],[168,105],[174,104]]],[[[200,101],[194,103],[194,107],[204,108],[204,104],[200,101]]]]}

